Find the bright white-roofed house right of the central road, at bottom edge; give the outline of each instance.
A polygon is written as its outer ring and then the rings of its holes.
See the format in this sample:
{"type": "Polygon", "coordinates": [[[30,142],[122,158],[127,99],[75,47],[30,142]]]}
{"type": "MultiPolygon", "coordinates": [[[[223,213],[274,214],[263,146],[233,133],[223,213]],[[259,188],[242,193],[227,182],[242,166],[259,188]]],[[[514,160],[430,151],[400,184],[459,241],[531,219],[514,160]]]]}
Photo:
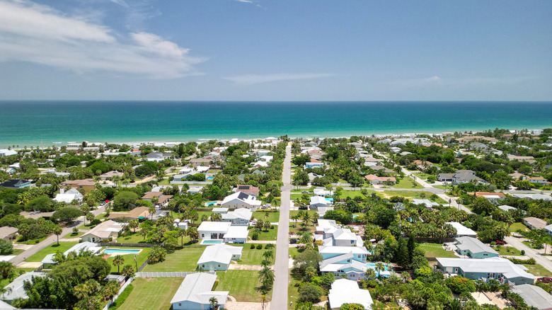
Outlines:
{"type": "Polygon", "coordinates": [[[367,289],[360,289],[356,281],[338,279],[332,283],[328,294],[330,309],[340,309],[343,304],[362,304],[364,309],[372,309],[372,296],[367,289]]]}

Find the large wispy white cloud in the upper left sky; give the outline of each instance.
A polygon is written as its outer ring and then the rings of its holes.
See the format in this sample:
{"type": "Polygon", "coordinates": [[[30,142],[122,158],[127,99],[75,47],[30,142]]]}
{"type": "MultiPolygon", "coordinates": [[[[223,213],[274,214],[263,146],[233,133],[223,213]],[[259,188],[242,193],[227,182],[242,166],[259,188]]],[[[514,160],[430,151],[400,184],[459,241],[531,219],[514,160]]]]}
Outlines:
{"type": "Polygon", "coordinates": [[[198,74],[194,65],[206,60],[152,33],[117,34],[105,25],[28,1],[0,0],[0,21],[4,62],[173,79],[198,74]]]}

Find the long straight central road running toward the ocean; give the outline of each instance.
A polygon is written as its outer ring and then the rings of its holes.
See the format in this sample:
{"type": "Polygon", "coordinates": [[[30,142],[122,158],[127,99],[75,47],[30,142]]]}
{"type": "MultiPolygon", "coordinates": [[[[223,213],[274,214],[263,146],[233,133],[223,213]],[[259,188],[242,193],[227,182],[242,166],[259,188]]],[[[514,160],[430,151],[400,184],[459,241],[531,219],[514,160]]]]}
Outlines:
{"type": "Polygon", "coordinates": [[[292,147],[286,148],[284,171],[282,173],[282,203],[280,204],[280,222],[278,222],[278,237],[276,241],[276,256],[274,264],[274,287],[270,309],[287,309],[287,286],[289,285],[289,202],[292,190],[292,147]]]}

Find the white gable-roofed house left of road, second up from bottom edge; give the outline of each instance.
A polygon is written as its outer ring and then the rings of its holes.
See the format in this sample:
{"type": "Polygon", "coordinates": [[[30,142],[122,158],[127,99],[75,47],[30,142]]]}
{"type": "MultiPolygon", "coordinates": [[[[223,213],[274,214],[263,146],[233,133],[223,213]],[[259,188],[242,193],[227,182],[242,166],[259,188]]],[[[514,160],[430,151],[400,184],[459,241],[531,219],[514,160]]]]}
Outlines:
{"type": "Polygon", "coordinates": [[[207,246],[197,260],[197,268],[226,271],[232,260],[241,258],[242,250],[243,246],[228,246],[224,243],[207,246]]]}

